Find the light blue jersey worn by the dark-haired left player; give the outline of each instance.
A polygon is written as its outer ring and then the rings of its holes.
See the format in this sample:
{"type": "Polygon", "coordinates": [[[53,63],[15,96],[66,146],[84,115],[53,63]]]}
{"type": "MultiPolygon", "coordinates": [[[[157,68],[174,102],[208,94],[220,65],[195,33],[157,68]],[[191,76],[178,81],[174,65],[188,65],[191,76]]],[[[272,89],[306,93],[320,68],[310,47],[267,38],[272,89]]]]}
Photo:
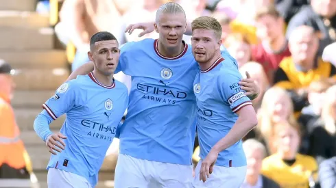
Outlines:
{"type": "Polygon", "coordinates": [[[67,136],[62,152],[51,155],[47,169],[83,176],[94,187],[106,151],[128,107],[128,89],[116,81],[106,86],[93,73],[63,83],[43,108],[55,120],[67,113],[60,133],[67,136]]]}

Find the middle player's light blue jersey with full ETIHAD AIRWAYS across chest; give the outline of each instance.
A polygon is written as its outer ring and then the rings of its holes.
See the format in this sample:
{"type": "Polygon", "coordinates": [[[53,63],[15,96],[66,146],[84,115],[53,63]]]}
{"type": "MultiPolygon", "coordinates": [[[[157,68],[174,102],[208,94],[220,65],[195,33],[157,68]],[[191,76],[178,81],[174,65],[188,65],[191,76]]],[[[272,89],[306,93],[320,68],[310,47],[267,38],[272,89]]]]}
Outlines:
{"type": "Polygon", "coordinates": [[[158,40],[121,47],[119,66],[132,77],[130,103],[120,129],[120,152],[138,159],[191,165],[195,139],[198,65],[185,45],[177,57],[158,53],[158,40]]]}

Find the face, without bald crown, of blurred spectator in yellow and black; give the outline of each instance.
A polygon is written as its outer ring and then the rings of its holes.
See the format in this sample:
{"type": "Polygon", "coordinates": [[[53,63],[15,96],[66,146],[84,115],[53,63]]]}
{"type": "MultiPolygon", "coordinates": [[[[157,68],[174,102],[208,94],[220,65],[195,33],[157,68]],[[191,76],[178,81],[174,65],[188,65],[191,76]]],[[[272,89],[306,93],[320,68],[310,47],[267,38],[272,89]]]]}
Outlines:
{"type": "Polygon", "coordinates": [[[294,62],[299,66],[313,62],[317,50],[318,39],[313,33],[302,32],[301,35],[297,35],[289,41],[289,51],[291,51],[294,62]]]}

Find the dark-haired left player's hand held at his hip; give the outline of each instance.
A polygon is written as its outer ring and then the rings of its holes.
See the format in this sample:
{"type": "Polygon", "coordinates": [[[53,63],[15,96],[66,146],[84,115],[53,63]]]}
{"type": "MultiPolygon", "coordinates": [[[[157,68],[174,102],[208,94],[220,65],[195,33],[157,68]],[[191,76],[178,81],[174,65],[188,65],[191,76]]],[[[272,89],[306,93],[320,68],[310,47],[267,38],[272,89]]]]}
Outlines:
{"type": "Polygon", "coordinates": [[[52,135],[50,135],[45,142],[45,145],[47,146],[49,152],[51,152],[53,155],[57,155],[55,151],[62,152],[65,147],[62,139],[67,139],[67,137],[62,135],[61,133],[53,133],[52,135]]]}

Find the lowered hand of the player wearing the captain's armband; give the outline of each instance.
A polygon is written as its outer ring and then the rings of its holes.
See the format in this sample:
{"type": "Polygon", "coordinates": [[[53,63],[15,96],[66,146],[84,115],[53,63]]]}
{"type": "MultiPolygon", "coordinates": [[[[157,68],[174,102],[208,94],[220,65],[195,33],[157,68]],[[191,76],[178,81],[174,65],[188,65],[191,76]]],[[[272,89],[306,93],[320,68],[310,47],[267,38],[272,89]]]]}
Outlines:
{"type": "Polygon", "coordinates": [[[209,178],[210,174],[213,173],[213,165],[215,165],[217,161],[218,153],[219,152],[215,150],[210,150],[206,158],[202,161],[200,180],[203,180],[203,182],[205,182],[206,178],[209,178]]]}

